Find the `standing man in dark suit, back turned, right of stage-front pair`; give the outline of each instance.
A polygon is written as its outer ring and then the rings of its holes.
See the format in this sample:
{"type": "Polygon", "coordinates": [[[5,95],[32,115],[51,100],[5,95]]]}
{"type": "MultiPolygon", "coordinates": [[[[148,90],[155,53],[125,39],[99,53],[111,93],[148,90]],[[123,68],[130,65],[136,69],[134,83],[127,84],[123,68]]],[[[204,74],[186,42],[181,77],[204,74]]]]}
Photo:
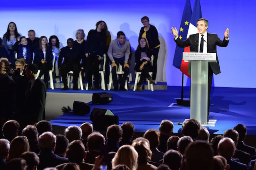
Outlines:
{"type": "Polygon", "coordinates": [[[37,76],[38,68],[35,64],[28,64],[25,71],[29,79],[24,102],[25,122],[35,124],[44,119],[46,85],[37,76]]]}

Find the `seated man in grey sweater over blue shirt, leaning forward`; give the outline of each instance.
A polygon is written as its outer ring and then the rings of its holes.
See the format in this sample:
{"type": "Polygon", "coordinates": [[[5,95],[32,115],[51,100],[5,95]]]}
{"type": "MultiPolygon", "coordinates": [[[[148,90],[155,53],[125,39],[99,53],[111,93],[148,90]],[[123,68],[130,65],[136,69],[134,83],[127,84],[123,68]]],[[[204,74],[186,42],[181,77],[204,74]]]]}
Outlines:
{"type": "Polygon", "coordinates": [[[111,73],[112,73],[114,90],[118,90],[118,81],[117,81],[115,66],[116,64],[119,63],[122,65],[123,71],[124,71],[123,77],[121,79],[120,90],[126,91],[126,89],[124,89],[124,85],[125,85],[127,76],[129,74],[129,64],[128,64],[129,55],[130,55],[130,43],[129,41],[126,41],[125,34],[122,31],[119,31],[117,33],[117,39],[111,41],[109,45],[109,50],[108,50],[108,56],[112,62],[111,73]]]}

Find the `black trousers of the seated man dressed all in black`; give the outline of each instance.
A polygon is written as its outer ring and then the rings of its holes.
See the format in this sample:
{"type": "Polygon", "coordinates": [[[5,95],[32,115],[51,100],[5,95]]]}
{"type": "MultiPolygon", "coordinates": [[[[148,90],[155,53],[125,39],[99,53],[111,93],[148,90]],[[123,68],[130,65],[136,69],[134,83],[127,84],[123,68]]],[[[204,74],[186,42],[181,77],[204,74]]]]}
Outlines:
{"type": "Polygon", "coordinates": [[[62,76],[62,81],[64,87],[68,87],[68,82],[67,82],[67,74],[69,71],[73,71],[73,88],[77,89],[78,88],[78,77],[79,77],[79,71],[80,71],[80,64],[63,64],[61,66],[61,76],[62,76]]]}

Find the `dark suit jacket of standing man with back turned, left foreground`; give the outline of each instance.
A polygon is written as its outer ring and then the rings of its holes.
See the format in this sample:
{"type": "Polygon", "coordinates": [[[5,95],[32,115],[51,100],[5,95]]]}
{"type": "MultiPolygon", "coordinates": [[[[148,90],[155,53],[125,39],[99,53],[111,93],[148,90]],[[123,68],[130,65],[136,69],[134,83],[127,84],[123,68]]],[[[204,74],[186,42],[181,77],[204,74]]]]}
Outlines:
{"type": "Polygon", "coordinates": [[[31,91],[30,83],[28,83],[24,103],[24,115],[28,116],[26,117],[28,123],[39,122],[43,119],[45,98],[46,85],[39,77],[35,80],[31,91]]]}

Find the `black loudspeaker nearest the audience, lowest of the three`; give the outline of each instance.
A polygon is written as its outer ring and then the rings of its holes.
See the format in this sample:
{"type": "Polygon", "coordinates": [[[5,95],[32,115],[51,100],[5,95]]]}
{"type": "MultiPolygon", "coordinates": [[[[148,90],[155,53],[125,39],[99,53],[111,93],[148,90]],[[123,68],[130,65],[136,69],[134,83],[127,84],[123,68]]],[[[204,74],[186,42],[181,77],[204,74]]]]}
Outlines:
{"type": "Polygon", "coordinates": [[[106,130],[110,125],[119,125],[118,116],[114,116],[114,114],[108,109],[98,109],[94,108],[91,112],[90,120],[93,124],[94,130],[106,130]]]}

